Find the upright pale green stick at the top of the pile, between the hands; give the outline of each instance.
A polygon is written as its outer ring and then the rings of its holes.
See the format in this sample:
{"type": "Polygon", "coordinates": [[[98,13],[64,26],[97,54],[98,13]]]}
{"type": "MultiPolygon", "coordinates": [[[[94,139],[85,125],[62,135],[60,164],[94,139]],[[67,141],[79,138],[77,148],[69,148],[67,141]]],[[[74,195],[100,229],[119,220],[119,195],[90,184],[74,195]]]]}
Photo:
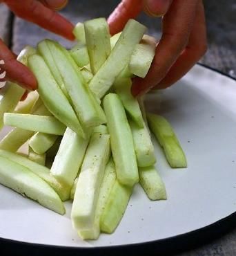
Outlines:
{"type": "Polygon", "coordinates": [[[91,19],[84,23],[86,44],[93,74],[99,71],[110,55],[110,33],[104,18],[91,19]]]}

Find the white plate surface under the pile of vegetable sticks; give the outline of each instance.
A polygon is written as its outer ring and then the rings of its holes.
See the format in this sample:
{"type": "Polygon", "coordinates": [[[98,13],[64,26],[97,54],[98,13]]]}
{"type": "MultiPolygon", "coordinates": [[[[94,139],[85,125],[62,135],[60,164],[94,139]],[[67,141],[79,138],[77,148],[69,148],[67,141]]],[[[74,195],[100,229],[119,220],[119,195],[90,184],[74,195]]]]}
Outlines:
{"type": "Polygon", "coordinates": [[[55,246],[137,244],[203,228],[235,212],[235,81],[197,65],[161,95],[148,95],[147,107],[170,121],[188,159],[188,169],[171,170],[155,143],[167,201],[149,201],[137,185],[115,233],[81,241],[70,222],[70,202],[61,216],[0,185],[0,237],[55,246]]]}

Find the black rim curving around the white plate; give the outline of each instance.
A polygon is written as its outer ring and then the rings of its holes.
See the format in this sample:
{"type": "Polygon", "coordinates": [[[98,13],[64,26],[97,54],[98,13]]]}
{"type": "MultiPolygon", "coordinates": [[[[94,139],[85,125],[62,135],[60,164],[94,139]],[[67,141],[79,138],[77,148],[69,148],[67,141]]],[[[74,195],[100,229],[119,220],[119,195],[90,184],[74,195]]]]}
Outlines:
{"type": "MultiPolygon", "coordinates": [[[[219,71],[217,68],[213,68],[211,66],[208,66],[206,64],[197,63],[195,66],[202,66],[210,71],[214,71],[215,73],[219,73],[220,75],[223,75],[225,77],[228,77],[230,80],[236,81],[236,77],[232,77],[223,71],[219,71]]],[[[6,248],[8,253],[9,246],[12,246],[14,248],[10,248],[12,252],[17,250],[17,247],[23,248],[22,252],[25,253],[31,253],[36,252],[37,254],[40,253],[39,250],[46,249],[47,253],[50,253],[48,250],[57,250],[57,255],[63,255],[63,253],[75,253],[77,251],[78,253],[85,253],[83,255],[91,255],[91,253],[96,253],[96,256],[104,255],[104,253],[107,253],[108,251],[112,250],[112,255],[119,255],[121,252],[128,253],[128,250],[132,250],[132,252],[135,250],[137,255],[144,255],[145,253],[148,253],[150,255],[152,252],[149,251],[150,249],[157,248],[158,253],[168,253],[171,248],[166,248],[168,244],[174,244],[175,246],[175,253],[177,253],[178,248],[181,250],[186,250],[186,244],[188,244],[188,248],[190,246],[199,246],[202,243],[208,243],[212,241],[213,239],[223,235],[225,232],[228,232],[230,230],[233,230],[236,228],[236,210],[232,214],[229,214],[228,216],[219,219],[218,221],[215,221],[213,223],[210,223],[207,226],[197,228],[196,230],[192,230],[189,232],[185,232],[179,235],[175,235],[173,237],[166,237],[163,239],[157,239],[152,241],[144,241],[141,243],[134,243],[134,244],[123,244],[123,245],[110,245],[110,246],[92,246],[92,247],[77,247],[77,246],[58,246],[58,245],[50,245],[50,244],[37,244],[37,243],[30,243],[26,241],[18,241],[13,239],[7,239],[0,237],[0,248],[3,246],[3,248],[6,248]],[[201,236],[203,235],[204,236],[201,236]],[[207,237],[207,238],[206,238],[207,237]],[[205,239],[206,238],[206,239],[205,239]],[[187,241],[187,243],[186,243],[187,241]],[[32,250],[29,251],[29,250],[32,250]],[[61,253],[59,253],[61,250],[61,253]]],[[[170,246],[169,246],[170,247],[170,246]]],[[[173,248],[172,248],[173,249],[173,248]]],[[[3,251],[4,253],[4,251],[3,251]]],[[[157,253],[157,252],[153,252],[157,253]]]]}

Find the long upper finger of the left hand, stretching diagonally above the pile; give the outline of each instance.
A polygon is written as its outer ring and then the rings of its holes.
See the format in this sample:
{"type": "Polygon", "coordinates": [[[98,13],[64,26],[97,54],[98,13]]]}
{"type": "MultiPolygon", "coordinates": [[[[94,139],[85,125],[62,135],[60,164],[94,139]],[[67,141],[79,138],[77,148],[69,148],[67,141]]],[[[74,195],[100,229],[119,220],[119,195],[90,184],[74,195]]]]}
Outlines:
{"type": "Polygon", "coordinates": [[[23,4],[15,0],[6,0],[5,2],[15,15],[62,37],[70,40],[75,39],[75,36],[72,34],[73,24],[57,12],[43,6],[41,2],[36,0],[24,0],[23,4]]]}

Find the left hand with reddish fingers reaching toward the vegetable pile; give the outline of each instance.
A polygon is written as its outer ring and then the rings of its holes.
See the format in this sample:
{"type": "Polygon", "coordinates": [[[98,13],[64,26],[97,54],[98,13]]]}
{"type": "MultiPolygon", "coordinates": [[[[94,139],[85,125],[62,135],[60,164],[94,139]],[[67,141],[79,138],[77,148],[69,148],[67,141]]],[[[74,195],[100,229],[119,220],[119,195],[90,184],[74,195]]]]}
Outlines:
{"type": "MultiPolygon", "coordinates": [[[[55,10],[66,6],[68,0],[4,0],[2,2],[6,3],[15,15],[67,39],[75,39],[72,35],[73,25],[55,12],[55,10]]],[[[3,44],[1,39],[0,60],[5,62],[4,65],[1,65],[3,71],[6,71],[5,79],[17,82],[17,84],[29,90],[37,89],[35,75],[26,66],[17,62],[16,55],[3,44]]]]}

